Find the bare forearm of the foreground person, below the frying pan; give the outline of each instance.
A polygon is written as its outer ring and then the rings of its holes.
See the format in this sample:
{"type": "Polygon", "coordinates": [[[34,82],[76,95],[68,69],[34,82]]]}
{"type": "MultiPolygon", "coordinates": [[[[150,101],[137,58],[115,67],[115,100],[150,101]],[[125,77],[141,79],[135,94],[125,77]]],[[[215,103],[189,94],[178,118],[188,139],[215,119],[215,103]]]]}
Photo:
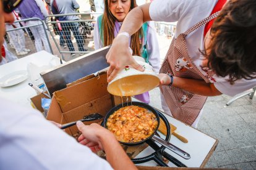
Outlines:
{"type": "Polygon", "coordinates": [[[101,136],[101,144],[106,153],[106,160],[114,169],[137,169],[124,152],[123,148],[113,134],[101,136]]]}

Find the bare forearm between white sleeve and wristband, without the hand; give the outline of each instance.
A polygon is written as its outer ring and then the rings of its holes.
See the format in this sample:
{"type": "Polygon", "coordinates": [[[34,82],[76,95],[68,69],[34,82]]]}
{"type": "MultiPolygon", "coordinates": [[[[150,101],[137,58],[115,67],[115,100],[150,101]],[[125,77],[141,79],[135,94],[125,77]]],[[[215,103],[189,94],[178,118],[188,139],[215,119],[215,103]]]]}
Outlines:
{"type": "Polygon", "coordinates": [[[119,33],[127,32],[132,35],[142,27],[143,22],[151,20],[148,13],[149,5],[150,4],[145,4],[132,9],[124,19],[119,33]]]}

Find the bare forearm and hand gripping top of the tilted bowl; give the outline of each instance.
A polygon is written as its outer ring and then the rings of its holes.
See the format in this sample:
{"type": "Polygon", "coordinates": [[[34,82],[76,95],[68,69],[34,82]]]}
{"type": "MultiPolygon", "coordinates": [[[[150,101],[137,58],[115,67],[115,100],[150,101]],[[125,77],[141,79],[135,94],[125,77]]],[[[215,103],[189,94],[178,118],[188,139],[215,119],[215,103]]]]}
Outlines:
{"type": "Polygon", "coordinates": [[[135,9],[132,9],[124,19],[124,23],[122,23],[121,30],[119,31],[120,36],[117,35],[117,37],[114,38],[112,46],[106,55],[107,62],[110,65],[107,72],[108,82],[110,82],[126,65],[130,65],[136,70],[144,71],[144,68],[137,63],[132,57],[132,54],[130,54],[129,36],[120,33],[127,32],[132,35],[139,30],[143,22],[151,20],[148,12],[149,6],[150,4],[145,4],[143,6],[135,7],[135,9]],[[122,57],[120,58],[119,56],[122,57]]]}

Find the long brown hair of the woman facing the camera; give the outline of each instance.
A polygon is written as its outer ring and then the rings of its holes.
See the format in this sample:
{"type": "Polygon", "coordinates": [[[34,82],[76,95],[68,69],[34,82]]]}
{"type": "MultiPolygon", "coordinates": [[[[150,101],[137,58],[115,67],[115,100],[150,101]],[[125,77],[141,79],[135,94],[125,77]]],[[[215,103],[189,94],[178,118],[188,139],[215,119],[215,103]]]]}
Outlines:
{"type": "MultiPolygon", "coordinates": [[[[130,0],[130,10],[137,7],[136,0],[130,0]]],[[[101,33],[100,37],[103,39],[104,46],[112,44],[114,40],[114,23],[116,22],[116,17],[111,13],[109,9],[109,0],[105,0],[105,10],[103,13],[103,18],[101,22],[101,33]]],[[[140,28],[135,34],[130,38],[130,48],[133,51],[133,55],[140,56],[140,49],[143,42],[143,30],[140,28]],[[140,41],[142,39],[142,41],[140,41]]]]}

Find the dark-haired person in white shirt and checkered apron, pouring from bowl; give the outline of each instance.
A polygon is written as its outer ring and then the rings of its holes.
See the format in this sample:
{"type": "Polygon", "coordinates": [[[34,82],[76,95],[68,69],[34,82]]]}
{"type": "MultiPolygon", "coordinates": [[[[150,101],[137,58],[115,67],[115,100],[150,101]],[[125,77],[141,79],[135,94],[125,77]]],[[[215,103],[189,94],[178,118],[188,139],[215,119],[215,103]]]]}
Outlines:
{"type": "Polygon", "coordinates": [[[255,3],[154,0],[131,10],[106,55],[108,82],[125,65],[144,70],[130,56],[126,34],[150,20],[177,22],[159,75],[163,105],[174,118],[197,127],[207,96],[233,96],[256,86],[255,3]]]}

